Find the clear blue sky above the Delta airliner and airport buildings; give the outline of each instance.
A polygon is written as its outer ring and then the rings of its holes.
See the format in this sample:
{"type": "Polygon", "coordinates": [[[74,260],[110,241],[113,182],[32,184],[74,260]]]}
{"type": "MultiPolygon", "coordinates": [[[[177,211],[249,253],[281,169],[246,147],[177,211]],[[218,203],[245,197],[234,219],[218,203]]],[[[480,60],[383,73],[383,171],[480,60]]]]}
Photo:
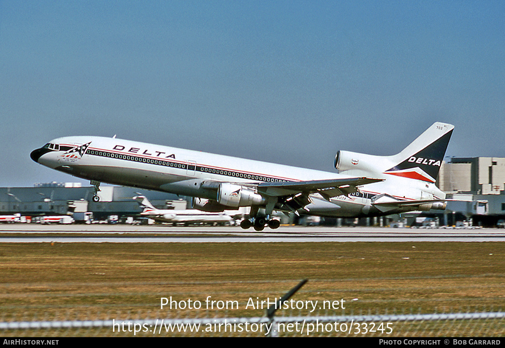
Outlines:
{"type": "Polygon", "coordinates": [[[503,1],[0,0],[0,186],[80,181],[29,157],[70,135],[332,171],[442,121],[505,157],[504,111],[503,1]]]}

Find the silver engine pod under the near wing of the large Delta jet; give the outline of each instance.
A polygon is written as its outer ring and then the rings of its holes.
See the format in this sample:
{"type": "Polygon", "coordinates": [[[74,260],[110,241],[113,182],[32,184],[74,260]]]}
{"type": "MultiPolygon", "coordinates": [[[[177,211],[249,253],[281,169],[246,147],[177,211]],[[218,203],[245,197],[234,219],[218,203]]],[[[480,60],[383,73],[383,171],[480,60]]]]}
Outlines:
{"type": "Polygon", "coordinates": [[[219,184],[217,201],[219,204],[239,207],[265,204],[265,198],[253,189],[230,183],[219,184]]]}

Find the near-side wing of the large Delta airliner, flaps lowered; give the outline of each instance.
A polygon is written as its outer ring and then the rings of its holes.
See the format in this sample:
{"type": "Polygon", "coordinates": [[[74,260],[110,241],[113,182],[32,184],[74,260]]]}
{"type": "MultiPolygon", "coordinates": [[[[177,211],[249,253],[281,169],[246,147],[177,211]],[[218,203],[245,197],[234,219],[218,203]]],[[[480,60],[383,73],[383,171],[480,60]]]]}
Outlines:
{"type": "Polygon", "coordinates": [[[384,179],[362,177],[282,183],[261,183],[258,185],[258,192],[264,193],[268,196],[290,196],[299,193],[320,193],[323,197],[329,199],[330,197],[358,192],[358,186],[378,183],[381,181],[384,181],[384,179]]]}

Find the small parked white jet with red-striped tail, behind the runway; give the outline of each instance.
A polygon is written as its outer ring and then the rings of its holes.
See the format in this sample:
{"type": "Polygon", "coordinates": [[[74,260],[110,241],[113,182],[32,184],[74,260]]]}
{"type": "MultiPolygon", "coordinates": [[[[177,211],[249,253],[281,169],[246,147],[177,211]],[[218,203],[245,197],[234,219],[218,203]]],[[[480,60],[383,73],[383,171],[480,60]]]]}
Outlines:
{"type": "Polygon", "coordinates": [[[143,207],[144,210],[140,213],[142,216],[146,216],[149,219],[153,219],[165,223],[218,223],[224,224],[229,223],[233,220],[232,216],[228,215],[226,212],[208,212],[201,211],[197,209],[158,209],[155,208],[151,202],[145,196],[135,196],[134,200],[143,207]]]}

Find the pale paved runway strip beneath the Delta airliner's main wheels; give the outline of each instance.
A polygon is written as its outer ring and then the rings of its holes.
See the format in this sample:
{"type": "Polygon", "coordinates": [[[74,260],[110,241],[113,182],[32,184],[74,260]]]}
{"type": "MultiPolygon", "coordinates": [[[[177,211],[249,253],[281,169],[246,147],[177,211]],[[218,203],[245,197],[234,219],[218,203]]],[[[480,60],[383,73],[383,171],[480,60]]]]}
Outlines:
{"type": "Polygon", "coordinates": [[[502,229],[410,229],[282,226],[277,230],[239,227],[129,225],[0,226],[0,243],[282,243],[282,242],[502,242],[502,229]]]}

